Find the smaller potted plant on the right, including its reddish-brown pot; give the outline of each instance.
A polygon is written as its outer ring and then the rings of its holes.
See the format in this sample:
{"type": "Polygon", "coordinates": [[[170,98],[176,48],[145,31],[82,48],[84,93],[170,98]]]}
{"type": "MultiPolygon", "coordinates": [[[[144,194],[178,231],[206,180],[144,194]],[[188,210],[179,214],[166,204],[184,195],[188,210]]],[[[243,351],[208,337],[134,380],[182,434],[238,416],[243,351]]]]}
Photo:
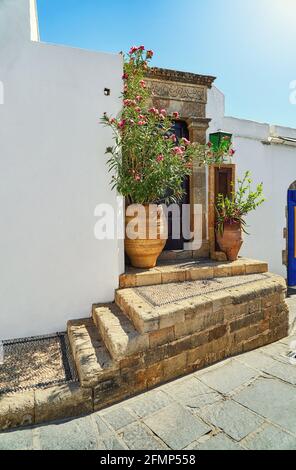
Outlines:
{"type": "Polygon", "coordinates": [[[237,259],[243,244],[242,232],[247,233],[246,215],[265,201],[263,184],[252,191],[250,176],[247,171],[243,179],[238,180],[238,189],[233,190],[230,197],[223,194],[217,197],[217,242],[229,261],[237,259]]]}

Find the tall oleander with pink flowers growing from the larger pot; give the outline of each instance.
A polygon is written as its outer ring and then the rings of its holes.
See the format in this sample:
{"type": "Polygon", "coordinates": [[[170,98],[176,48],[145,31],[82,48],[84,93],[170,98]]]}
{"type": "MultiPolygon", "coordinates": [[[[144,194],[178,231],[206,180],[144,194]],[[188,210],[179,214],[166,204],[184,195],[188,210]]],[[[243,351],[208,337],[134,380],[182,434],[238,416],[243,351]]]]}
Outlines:
{"type": "Polygon", "coordinates": [[[114,145],[106,151],[112,188],[129,203],[177,202],[184,194],[184,178],[191,174],[194,159],[202,160],[205,146],[177,140],[172,129],[178,112],[151,106],[152,93],[145,81],[153,51],[132,47],[124,56],[123,109],[119,118],[106,114],[114,145]]]}

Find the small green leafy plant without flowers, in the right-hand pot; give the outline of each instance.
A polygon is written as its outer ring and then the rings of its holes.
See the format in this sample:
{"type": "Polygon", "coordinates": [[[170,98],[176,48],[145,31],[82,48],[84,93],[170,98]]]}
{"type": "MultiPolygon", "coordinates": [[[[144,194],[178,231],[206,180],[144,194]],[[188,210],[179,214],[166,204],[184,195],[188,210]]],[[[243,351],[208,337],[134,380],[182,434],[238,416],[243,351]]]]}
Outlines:
{"type": "Polygon", "coordinates": [[[247,171],[243,179],[238,180],[237,191],[233,188],[231,196],[218,194],[216,201],[217,229],[222,235],[225,224],[240,224],[242,230],[246,232],[246,215],[263,204],[263,183],[257,185],[256,189],[251,189],[251,173],[247,171]]]}

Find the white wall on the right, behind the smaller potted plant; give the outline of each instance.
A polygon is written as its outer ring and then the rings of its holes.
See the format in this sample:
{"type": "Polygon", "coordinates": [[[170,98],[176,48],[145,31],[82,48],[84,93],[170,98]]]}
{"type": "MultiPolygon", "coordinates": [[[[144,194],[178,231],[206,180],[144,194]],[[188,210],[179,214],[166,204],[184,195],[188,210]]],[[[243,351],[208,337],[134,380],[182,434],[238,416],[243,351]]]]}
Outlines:
{"type": "Polygon", "coordinates": [[[250,235],[244,236],[241,254],[268,261],[271,271],[286,277],[282,263],[282,251],[286,248],[283,229],[287,190],[296,180],[296,147],[263,142],[271,135],[295,138],[296,129],[224,117],[223,95],[215,90],[209,91],[207,116],[213,118],[209,132],[223,130],[233,134],[238,176],[250,170],[254,185],[261,181],[264,184],[267,201],[247,218],[250,235]]]}

